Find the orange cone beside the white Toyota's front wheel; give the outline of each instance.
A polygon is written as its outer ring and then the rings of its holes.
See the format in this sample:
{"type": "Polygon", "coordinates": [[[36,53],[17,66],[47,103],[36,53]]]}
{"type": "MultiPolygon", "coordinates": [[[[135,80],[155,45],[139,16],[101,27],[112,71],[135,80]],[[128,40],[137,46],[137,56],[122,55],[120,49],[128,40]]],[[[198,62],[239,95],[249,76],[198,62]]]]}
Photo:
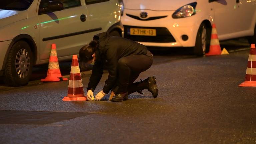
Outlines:
{"type": "Polygon", "coordinates": [[[205,54],[206,56],[220,55],[221,54],[220,42],[217,35],[216,25],[212,24],[212,35],[210,42],[210,51],[205,54]]]}

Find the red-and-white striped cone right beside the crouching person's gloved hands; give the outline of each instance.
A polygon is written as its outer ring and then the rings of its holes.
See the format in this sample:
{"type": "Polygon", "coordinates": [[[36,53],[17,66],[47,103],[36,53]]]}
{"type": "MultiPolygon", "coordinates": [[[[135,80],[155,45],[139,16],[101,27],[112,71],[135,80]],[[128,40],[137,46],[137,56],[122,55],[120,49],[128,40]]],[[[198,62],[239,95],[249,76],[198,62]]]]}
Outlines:
{"type": "Polygon", "coordinates": [[[73,55],[72,58],[70,79],[68,84],[68,95],[65,96],[62,100],[86,101],[77,55],[73,55]]]}

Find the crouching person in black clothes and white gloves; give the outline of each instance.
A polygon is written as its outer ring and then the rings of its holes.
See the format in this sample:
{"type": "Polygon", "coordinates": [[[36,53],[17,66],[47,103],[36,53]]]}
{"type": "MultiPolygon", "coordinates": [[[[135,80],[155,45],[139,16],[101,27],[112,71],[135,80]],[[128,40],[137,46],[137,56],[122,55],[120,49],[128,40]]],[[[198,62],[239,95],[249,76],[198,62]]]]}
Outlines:
{"type": "Polygon", "coordinates": [[[80,49],[79,57],[82,65],[93,64],[86,95],[89,101],[94,99],[93,91],[102,77],[103,67],[109,75],[103,89],[96,94],[96,101],[100,101],[110,90],[115,93],[112,102],[127,100],[129,94],[136,91],[141,93],[144,89],[149,90],[154,98],[158,95],[154,76],[133,83],[153,63],[153,55],[142,44],[103,32],[80,49]]]}

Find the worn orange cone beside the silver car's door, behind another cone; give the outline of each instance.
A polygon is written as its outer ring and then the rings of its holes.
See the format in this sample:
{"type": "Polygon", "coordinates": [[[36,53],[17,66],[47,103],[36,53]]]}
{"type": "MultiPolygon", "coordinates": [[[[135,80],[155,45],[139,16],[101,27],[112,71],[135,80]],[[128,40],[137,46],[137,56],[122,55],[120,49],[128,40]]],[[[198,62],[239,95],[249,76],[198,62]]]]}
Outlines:
{"type": "Polygon", "coordinates": [[[63,80],[68,80],[68,79],[63,78],[60,73],[60,67],[59,67],[57,51],[56,51],[56,44],[52,44],[47,76],[45,79],[41,79],[41,81],[42,82],[56,82],[56,81],[63,81],[63,80]]]}

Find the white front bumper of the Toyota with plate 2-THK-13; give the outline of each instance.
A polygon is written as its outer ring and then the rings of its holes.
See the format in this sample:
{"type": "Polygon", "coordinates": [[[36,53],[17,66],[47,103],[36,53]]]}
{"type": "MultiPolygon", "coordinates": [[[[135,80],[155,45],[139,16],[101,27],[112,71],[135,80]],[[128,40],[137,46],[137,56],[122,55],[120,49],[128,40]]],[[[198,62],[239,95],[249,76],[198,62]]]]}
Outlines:
{"type": "MultiPolygon", "coordinates": [[[[155,20],[137,20],[134,18],[131,18],[130,16],[127,16],[126,13],[136,15],[140,11],[138,10],[126,10],[125,14],[122,16],[121,20],[125,28],[125,36],[128,39],[137,41],[145,46],[157,46],[157,47],[193,47],[195,46],[196,41],[196,35],[198,28],[202,22],[200,20],[199,15],[193,15],[186,18],[178,18],[173,19],[172,14],[174,11],[154,11],[152,12],[153,16],[167,16],[165,18],[155,19],[155,20]],[[165,41],[159,41],[159,42],[151,42],[146,40],[148,36],[140,36],[141,38],[138,38],[138,36],[135,38],[132,38],[133,36],[128,36],[127,30],[128,28],[136,27],[136,28],[166,28],[170,35],[166,35],[166,37],[173,37],[173,40],[170,40],[170,42],[165,41]],[[188,36],[187,40],[182,39],[182,35],[188,36]],[[141,40],[145,38],[145,40],[141,40]]],[[[150,11],[148,11],[150,14],[150,11]]],[[[158,37],[158,35],[155,37],[156,39],[161,39],[161,37],[158,37]]],[[[154,36],[152,36],[152,39],[154,39],[154,36]]]]}

